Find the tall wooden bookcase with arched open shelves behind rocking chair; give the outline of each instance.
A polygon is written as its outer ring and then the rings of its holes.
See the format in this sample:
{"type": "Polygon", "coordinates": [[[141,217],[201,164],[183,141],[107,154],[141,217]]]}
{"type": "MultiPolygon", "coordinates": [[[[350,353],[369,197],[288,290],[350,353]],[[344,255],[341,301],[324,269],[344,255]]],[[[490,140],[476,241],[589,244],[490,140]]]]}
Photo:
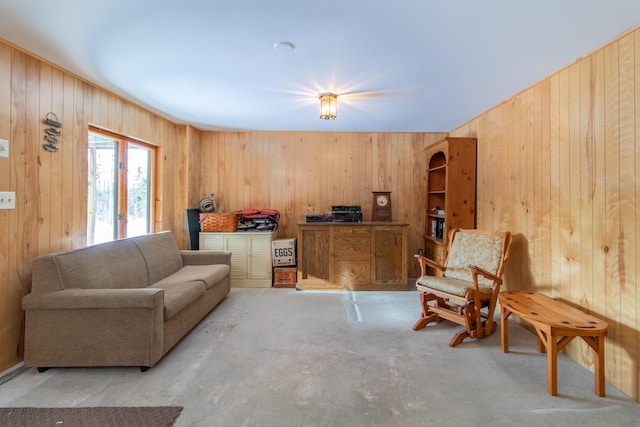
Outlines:
{"type": "Polygon", "coordinates": [[[444,262],[453,228],[475,228],[476,138],[445,138],[427,158],[425,256],[444,262]]]}

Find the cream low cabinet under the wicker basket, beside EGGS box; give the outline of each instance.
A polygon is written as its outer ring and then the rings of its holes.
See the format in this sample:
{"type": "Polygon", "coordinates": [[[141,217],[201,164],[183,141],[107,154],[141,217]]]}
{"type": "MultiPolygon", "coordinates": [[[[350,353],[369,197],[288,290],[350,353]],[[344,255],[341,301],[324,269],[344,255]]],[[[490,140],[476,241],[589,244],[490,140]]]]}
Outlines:
{"type": "Polygon", "coordinates": [[[200,233],[200,249],[231,252],[231,286],[271,287],[273,232],[200,233]]]}

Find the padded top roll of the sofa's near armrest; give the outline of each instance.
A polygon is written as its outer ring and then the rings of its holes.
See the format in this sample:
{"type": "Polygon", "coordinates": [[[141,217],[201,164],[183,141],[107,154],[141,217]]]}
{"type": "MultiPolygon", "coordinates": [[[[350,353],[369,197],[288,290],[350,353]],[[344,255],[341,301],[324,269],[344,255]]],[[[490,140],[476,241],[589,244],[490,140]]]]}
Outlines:
{"type": "Polygon", "coordinates": [[[32,292],[22,299],[25,310],[78,310],[86,308],[157,308],[162,310],[164,291],[156,288],[65,289],[32,292]]]}

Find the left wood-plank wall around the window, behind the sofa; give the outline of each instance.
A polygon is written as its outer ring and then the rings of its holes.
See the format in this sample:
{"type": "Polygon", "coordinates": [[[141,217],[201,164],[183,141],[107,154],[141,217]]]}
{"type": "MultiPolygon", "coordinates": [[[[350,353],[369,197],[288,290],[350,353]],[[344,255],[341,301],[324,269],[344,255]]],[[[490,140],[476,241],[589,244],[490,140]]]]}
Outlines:
{"type": "MultiPolygon", "coordinates": [[[[0,191],[16,192],[16,209],[0,210],[0,372],[22,360],[22,297],[31,288],[31,261],[86,244],[89,124],[159,147],[161,177],[156,229],[185,241],[189,129],[177,126],[0,41],[0,191]],[[59,151],[44,143],[43,118],[62,122],[59,151]]],[[[192,144],[193,145],[193,144],[192,144]]]]}

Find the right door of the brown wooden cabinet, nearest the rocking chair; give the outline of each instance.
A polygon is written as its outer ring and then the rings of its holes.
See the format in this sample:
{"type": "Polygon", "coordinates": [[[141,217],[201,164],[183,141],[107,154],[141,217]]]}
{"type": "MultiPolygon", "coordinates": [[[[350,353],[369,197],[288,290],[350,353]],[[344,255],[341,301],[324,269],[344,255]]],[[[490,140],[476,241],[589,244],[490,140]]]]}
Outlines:
{"type": "Polygon", "coordinates": [[[389,290],[407,289],[406,227],[374,227],[373,244],[372,282],[389,290]]]}

